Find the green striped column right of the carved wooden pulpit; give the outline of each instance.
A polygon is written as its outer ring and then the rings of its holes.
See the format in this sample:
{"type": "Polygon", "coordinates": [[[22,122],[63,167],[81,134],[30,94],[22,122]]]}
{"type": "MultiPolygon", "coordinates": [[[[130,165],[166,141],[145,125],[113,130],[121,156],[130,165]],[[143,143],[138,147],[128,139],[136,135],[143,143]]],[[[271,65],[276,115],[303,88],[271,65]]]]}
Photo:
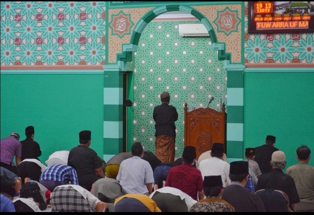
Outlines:
{"type": "Polygon", "coordinates": [[[227,66],[227,154],[243,159],[243,65],[227,66]]]}

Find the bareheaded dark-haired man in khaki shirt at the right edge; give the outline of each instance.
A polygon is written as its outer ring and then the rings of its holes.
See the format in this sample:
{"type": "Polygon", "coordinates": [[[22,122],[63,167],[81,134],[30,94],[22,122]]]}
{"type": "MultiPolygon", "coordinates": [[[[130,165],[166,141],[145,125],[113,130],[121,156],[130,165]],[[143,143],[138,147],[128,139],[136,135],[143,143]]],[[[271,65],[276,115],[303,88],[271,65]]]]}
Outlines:
{"type": "Polygon", "coordinates": [[[309,165],[311,150],[307,146],[301,146],[296,154],[299,163],[286,170],[286,174],[295,181],[301,201],[296,204],[295,211],[314,212],[314,167],[309,165]]]}

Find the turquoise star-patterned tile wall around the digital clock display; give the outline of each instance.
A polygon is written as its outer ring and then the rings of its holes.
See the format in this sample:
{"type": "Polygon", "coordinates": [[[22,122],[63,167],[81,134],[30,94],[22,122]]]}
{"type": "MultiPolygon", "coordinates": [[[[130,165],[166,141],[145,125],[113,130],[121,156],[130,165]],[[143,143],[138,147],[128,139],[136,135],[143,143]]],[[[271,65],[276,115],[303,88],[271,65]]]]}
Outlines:
{"type": "Polygon", "coordinates": [[[314,33],[248,34],[245,8],[245,63],[313,63],[314,33]]]}

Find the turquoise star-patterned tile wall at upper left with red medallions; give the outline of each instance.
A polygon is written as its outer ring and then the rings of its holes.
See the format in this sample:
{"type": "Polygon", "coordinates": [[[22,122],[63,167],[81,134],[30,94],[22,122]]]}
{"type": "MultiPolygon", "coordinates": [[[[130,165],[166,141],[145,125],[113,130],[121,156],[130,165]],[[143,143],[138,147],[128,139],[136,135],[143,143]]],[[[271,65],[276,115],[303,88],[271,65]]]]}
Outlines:
{"type": "Polygon", "coordinates": [[[1,2],[1,65],[105,64],[105,2],[1,2]]]}

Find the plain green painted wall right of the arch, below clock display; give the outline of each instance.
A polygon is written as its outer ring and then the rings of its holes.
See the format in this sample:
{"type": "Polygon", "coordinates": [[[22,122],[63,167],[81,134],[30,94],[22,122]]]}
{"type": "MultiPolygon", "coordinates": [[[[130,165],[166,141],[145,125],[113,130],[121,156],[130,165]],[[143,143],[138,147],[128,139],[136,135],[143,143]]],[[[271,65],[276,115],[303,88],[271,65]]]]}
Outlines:
{"type": "Polygon", "coordinates": [[[275,147],[284,151],[290,167],[297,164],[299,146],[314,151],[314,73],[273,70],[244,73],[243,148],[264,144],[267,135],[276,136],[275,147]]]}

